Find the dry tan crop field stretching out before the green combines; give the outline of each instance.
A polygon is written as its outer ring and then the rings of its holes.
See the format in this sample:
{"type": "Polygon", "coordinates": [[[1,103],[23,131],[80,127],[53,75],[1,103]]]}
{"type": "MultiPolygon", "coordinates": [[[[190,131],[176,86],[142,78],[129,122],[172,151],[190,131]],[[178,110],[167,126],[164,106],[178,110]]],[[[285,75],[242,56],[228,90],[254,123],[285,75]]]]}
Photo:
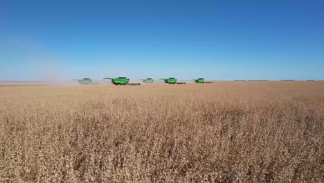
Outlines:
{"type": "Polygon", "coordinates": [[[0,87],[0,182],[324,182],[324,82],[0,87]]]}

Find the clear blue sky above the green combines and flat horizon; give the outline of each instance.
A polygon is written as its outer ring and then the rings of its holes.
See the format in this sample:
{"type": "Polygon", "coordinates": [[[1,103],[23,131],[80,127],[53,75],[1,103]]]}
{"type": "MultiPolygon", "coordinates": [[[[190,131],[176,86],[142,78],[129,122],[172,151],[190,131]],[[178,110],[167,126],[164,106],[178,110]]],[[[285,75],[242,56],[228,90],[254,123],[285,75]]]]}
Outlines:
{"type": "Polygon", "coordinates": [[[324,80],[324,2],[1,1],[0,80],[324,80]]]}

